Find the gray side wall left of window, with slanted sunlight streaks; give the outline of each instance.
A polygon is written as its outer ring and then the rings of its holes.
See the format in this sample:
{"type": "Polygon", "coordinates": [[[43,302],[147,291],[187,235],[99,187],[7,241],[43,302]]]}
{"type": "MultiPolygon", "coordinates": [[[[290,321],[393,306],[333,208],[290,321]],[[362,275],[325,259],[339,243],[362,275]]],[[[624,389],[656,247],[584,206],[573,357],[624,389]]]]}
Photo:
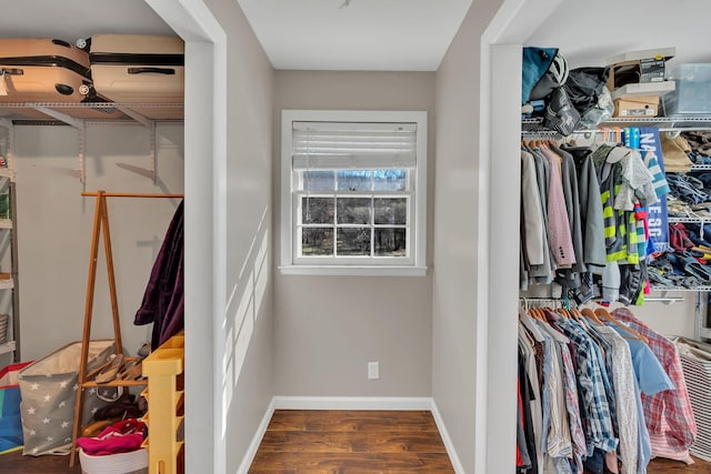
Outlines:
{"type": "MultiPolygon", "coordinates": [[[[271,402],[273,70],[237,2],[206,2],[227,33],[226,307],[216,314],[216,468],[237,472],[271,402]],[[223,353],[219,353],[223,349],[223,353]],[[222,420],[220,420],[222,417],[222,420]],[[222,426],[223,424],[223,426],[222,426]],[[221,451],[223,450],[223,451],[221,451]]],[[[220,78],[218,78],[220,80],[220,78]]],[[[218,98],[219,100],[219,98],[218,98]]],[[[218,155],[220,150],[218,149],[218,155]]],[[[220,167],[218,167],[220,170],[220,167]]],[[[220,206],[218,206],[220,209],[220,206]]],[[[218,229],[218,231],[220,231],[218,229]]],[[[218,263],[218,268],[219,268],[218,263]]],[[[217,309],[220,311],[220,309],[217,309]]]]}

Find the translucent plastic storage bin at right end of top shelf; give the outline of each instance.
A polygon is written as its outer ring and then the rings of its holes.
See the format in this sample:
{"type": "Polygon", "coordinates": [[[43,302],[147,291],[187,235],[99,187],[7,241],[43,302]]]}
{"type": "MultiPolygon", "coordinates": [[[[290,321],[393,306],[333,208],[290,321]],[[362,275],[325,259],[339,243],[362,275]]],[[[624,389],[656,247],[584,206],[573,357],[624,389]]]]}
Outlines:
{"type": "Polygon", "coordinates": [[[711,115],[711,64],[679,64],[669,79],[677,88],[663,97],[667,117],[711,115]]]}

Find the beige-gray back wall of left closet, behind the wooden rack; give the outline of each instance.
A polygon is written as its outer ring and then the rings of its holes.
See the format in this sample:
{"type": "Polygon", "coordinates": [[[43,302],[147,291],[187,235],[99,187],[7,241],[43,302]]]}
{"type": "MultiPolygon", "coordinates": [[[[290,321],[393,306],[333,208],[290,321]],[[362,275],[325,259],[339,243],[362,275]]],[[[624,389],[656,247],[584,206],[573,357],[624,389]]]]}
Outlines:
{"type": "MultiPolygon", "coordinates": [[[[159,125],[158,184],[117,167],[150,167],[148,129],[88,125],[86,185],[69,173],[79,168],[78,133],[70,127],[16,127],[17,225],[19,235],[22,360],[36,360],[81,341],[94,198],[82,191],[182,193],[183,129],[159,125]]],[[[134,354],[150,342],[152,325],[136,326],[153,262],[178,200],[109,199],[123,346],[134,354]]],[[[112,337],[111,306],[99,251],[92,319],[93,339],[112,337]]]]}

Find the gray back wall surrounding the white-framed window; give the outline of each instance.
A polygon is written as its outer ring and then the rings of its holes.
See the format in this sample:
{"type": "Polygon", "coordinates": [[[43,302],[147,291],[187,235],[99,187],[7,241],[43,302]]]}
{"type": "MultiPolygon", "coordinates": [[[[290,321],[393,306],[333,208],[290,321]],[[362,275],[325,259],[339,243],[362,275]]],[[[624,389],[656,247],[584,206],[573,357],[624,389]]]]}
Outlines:
{"type": "MultiPolygon", "coordinates": [[[[434,73],[277,71],[274,183],[280,182],[282,109],[425,110],[430,196],[434,157],[434,73]]],[[[432,236],[430,198],[429,244],[432,236]]],[[[280,203],[274,186],[273,201],[280,203]]],[[[279,210],[274,208],[274,236],[279,210]]],[[[279,246],[277,245],[277,249],[279,246]]],[[[276,252],[274,261],[279,261],[276,252]]],[[[432,253],[428,253],[431,262],[432,253]]],[[[430,396],[431,276],[274,279],[274,381],[287,396],[430,396]],[[367,362],[380,362],[380,380],[367,362]]]]}

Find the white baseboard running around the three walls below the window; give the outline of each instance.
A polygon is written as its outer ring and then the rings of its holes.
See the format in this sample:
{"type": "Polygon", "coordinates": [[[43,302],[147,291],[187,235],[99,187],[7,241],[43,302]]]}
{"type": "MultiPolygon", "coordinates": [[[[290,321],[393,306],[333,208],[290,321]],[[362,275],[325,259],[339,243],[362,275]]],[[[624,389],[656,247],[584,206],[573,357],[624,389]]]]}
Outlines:
{"type": "Polygon", "coordinates": [[[247,474],[249,472],[274,410],[427,410],[434,417],[434,423],[440,432],[454,472],[464,474],[464,468],[459,461],[454,444],[449,436],[437,403],[427,396],[274,396],[267,407],[254,437],[252,437],[252,442],[242,458],[242,464],[237,471],[238,474],[247,474]]]}

